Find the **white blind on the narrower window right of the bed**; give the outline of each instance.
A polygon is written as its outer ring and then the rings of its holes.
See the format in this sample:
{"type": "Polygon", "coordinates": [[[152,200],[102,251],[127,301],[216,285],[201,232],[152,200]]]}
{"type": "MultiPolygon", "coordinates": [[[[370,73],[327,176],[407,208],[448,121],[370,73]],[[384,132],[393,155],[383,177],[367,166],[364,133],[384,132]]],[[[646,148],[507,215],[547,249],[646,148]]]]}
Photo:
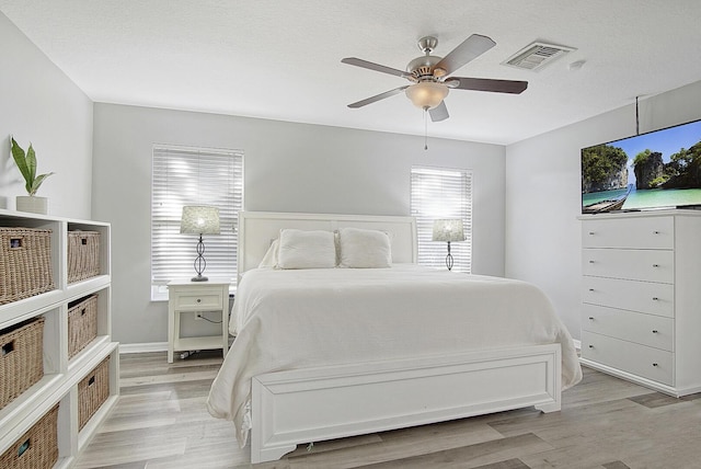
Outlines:
{"type": "Polygon", "coordinates": [[[433,241],[434,220],[461,218],[464,241],[451,242],[453,271],[472,271],[472,173],[467,170],[412,167],[411,214],[416,218],[418,263],[446,267],[448,243],[433,241]]]}

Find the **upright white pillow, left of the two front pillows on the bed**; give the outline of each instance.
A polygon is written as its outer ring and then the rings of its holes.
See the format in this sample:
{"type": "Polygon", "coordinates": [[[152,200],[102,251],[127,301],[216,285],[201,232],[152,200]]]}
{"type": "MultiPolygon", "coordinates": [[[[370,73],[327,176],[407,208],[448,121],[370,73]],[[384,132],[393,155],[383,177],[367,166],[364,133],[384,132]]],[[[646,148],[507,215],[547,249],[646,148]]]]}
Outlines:
{"type": "Polygon", "coordinates": [[[332,231],[280,230],[277,252],[279,268],[333,268],[336,247],[332,231]]]}

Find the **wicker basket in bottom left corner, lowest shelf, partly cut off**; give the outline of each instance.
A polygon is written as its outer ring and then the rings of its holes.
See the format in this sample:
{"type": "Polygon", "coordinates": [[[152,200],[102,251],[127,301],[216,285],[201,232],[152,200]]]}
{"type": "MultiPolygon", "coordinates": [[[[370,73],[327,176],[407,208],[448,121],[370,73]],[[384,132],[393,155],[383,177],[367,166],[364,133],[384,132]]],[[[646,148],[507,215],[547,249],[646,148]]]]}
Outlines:
{"type": "Polygon", "coordinates": [[[50,469],[58,460],[58,404],[0,456],[2,469],[50,469]]]}

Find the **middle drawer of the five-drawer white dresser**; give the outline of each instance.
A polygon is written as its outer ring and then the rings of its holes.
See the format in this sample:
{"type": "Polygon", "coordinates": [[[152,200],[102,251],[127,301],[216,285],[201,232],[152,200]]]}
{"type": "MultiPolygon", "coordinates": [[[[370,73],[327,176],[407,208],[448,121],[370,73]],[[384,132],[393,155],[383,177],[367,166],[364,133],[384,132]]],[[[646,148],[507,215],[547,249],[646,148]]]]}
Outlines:
{"type": "Polygon", "coordinates": [[[670,284],[583,277],[582,298],[589,305],[608,306],[650,314],[675,316],[675,287],[670,284]]]}

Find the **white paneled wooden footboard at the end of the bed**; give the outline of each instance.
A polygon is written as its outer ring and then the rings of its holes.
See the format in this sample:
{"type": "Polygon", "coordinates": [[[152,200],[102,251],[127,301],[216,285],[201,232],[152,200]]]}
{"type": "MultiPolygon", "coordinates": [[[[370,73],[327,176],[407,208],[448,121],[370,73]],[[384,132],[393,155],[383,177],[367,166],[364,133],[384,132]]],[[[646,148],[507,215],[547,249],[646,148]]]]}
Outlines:
{"type": "Polygon", "coordinates": [[[277,371],[252,382],[251,462],[298,444],[561,408],[560,344],[277,371]]]}

